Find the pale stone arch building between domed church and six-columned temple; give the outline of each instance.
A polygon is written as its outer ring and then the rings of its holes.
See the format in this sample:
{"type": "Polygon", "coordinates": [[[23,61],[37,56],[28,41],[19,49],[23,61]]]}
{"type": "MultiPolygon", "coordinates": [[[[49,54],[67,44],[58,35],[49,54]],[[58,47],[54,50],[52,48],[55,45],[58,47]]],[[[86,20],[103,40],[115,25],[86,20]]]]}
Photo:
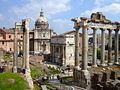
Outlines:
{"type": "MultiPolygon", "coordinates": [[[[80,41],[79,53],[81,53],[82,38],[80,38],[79,41],[80,41]]],[[[75,59],[74,30],[51,38],[51,62],[61,66],[67,66],[67,65],[73,66],[74,59],[75,59]]]]}

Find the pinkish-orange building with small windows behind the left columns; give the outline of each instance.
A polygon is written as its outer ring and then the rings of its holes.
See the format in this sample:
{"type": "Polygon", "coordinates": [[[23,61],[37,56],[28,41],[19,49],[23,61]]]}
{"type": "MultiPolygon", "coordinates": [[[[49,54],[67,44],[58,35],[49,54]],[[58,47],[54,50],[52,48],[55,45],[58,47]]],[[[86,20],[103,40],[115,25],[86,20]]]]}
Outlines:
{"type": "MultiPolygon", "coordinates": [[[[18,51],[22,50],[23,32],[18,31],[18,51]]],[[[14,52],[14,29],[0,29],[0,48],[7,52],[14,52]]]]}

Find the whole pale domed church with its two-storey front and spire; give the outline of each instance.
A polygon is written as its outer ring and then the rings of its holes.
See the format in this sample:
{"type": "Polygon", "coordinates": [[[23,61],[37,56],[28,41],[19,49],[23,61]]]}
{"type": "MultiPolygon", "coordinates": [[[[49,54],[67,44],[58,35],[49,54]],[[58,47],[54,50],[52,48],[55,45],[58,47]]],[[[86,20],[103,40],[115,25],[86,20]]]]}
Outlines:
{"type": "Polygon", "coordinates": [[[41,10],[40,17],[35,22],[34,31],[34,53],[50,54],[51,37],[56,35],[52,29],[49,28],[47,18],[41,10]]]}

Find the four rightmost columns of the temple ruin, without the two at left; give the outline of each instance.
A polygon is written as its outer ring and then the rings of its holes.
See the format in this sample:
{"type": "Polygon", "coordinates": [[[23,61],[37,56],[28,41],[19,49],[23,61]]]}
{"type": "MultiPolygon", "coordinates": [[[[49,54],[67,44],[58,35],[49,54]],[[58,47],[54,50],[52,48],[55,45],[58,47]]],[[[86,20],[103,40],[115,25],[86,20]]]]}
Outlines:
{"type": "MultiPolygon", "coordinates": [[[[96,30],[93,29],[93,67],[97,66],[96,62],[96,56],[97,56],[97,36],[96,36],[96,30]]],[[[102,36],[101,36],[101,51],[102,51],[102,56],[101,56],[101,65],[105,66],[105,29],[101,29],[102,31],[102,36]]],[[[112,65],[112,30],[108,29],[109,31],[109,40],[108,40],[108,65],[112,65]]],[[[119,35],[118,35],[118,30],[115,30],[115,61],[114,64],[119,64],[118,62],[118,50],[119,50],[119,35]]]]}

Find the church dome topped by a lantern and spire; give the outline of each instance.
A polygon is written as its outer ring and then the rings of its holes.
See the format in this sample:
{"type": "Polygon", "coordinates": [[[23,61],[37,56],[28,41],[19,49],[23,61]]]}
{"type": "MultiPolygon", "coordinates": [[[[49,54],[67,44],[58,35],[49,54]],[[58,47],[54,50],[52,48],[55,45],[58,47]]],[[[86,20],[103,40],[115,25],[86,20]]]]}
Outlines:
{"type": "Polygon", "coordinates": [[[41,10],[40,17],[35,22],[36,29],[47,29],[49,26],[47,18],[44,16],[44,12],[41,10]]]}

